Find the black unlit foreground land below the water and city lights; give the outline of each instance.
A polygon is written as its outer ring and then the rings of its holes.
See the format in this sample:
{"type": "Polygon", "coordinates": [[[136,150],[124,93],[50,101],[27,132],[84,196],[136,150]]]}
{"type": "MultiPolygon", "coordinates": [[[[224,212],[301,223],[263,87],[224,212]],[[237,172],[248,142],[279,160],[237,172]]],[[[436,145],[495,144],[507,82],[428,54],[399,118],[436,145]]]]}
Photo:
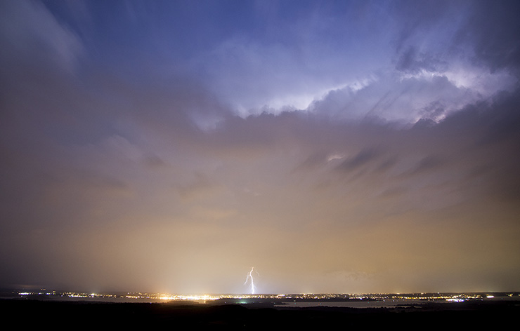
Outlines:
{"type": "Polygon", "coordinates": [[[238,304],[138,304],[106,302],[56,302],[0,299],[4,325],[24,327],[168,327],[210,330],[294,330],[296,328],[398,326],[498,327],[516,325],[520,302],[462,302],[421,304],[415,307],[353,309],[333,307],[275,308],[238,304]]]}

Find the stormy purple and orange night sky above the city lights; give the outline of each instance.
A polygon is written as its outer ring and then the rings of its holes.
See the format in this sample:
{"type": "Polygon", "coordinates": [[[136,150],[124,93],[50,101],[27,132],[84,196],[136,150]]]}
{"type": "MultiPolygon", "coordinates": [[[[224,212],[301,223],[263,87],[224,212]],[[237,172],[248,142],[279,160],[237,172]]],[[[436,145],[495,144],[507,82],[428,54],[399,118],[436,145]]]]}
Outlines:
{"type": "Polygon", "coordinates": [[[0,1],[0,287],[520,290],[518,1],[0,1]]]}

